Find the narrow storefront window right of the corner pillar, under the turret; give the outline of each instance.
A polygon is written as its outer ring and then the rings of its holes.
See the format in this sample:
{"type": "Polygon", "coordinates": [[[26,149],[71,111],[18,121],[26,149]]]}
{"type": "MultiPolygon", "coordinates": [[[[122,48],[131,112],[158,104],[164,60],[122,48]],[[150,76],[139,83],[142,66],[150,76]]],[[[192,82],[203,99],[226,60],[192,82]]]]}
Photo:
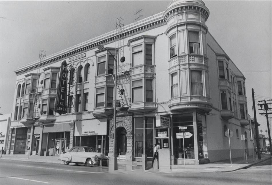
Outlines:
{"type": "Polygon", "coordinates": [[[197,114],[196,120],[198,133],[198,158],[208,158],[206,117],[204,115],[197,114]]]}

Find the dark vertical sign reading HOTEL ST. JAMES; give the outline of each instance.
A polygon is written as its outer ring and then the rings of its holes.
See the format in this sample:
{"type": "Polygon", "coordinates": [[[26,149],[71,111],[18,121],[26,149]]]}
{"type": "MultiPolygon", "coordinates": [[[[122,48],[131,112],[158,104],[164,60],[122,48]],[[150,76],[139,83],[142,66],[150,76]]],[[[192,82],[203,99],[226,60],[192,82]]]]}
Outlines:
{"type": "Polygon", "coordinates": [[[55,112],[59,114],[67,113],[67,104],[66,104],[66,96],[67,96],[67,63],[64,60],[61,64],[60,69],[60,79],[57,91],[57,98],[55,104],[55,112]]]}

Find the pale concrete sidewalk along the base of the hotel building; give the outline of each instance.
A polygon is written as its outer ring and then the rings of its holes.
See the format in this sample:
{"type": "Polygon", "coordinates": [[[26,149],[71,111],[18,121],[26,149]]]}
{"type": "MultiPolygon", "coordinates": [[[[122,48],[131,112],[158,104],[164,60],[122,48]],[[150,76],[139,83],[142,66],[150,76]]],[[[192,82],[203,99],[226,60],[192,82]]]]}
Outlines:
{"type": "MultiPolygon", "coordinates": [[[[55,163],[55,164],[63,164],[62,161],[58,160],[59,156],[27,156],[24,154],[16,154],[16,155],[0,155],[1,160],[19,160],[19,161],[31,161],[31,162],[45,162],[45,163],[55,163]]],[[[254,164],[258,164],[264,160],[271,160],[272,156],[268,153],[261,154],[261,160],[256,160],[254,156],[254,160],[252,156],[247,157],[247,162],[245,163],[244,157],[241,158],[233,158],[232,165],[230,165],[230,159],[222,160],[209,164],[200,164],[200,165],[172,165],[172,169],[170,172],[159,172],[157,169],[149,169],[145,170],[145,172],[149,173],[174,173],[174,172],[231,172],[243,168],[249,168],[254,164]]],[[[143,172],[142,169],[138,168],[134,171],[128,172],[122,169],[116,171],[117,173],[135,173],[135,172],[143,172]]]]}

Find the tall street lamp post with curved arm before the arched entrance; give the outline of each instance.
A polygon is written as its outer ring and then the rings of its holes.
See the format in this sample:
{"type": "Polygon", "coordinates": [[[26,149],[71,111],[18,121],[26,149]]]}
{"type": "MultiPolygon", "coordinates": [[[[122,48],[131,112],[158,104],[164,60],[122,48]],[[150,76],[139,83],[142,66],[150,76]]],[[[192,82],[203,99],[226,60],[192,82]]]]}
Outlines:
{"type": "Polygon", "coordinates": [[[111,53],[111,51],[109,51],[108,49],[106,49],[103,45],[97,45],[97,48],[99,50],[101,49],[105,49],[107,50],[110,55],[113,57],[114,61],[115,61],[115,83],[114,83],[114,88],[115,88],[115,93],[114,93],[114,106],[113,106],[113,156],[112,158],[109,158],[109,172],[113,172],[115,170],[117,170],[117,156],[115,155],[115,126],[116,126],[116,94],[117,94],[117,60],[115,59],[114,55],[111,53]]]}

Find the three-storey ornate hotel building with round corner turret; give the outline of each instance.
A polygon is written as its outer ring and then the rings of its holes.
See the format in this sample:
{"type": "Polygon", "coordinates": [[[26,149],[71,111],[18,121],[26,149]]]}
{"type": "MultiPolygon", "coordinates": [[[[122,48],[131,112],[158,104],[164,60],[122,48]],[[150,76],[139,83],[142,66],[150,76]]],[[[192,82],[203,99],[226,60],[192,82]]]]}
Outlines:
{"type": "Polygon", "coordinates": [[[244,156],[253,146],[241,140],[250,136],[245,77],[208,32],[208,17],[203,1],[172,1],[164,12],[50,56],[41,52],[39,61],[15,71],[8,150],[58,155],[85,145],[112,156],[115,142],[121,160],[150,161],[159,142],[171,154],[169,163],[183,164],[185,157],[202,164],[230,158],[230,129],[232,158],[244,156]],[[64,61],[67,80],[60,81],[64,61]],[[62,93],[68,107],[60,115],[54,108],[62,93]],[[185,154],[182,127],[185,147],[192,144],[185,154]]]}

